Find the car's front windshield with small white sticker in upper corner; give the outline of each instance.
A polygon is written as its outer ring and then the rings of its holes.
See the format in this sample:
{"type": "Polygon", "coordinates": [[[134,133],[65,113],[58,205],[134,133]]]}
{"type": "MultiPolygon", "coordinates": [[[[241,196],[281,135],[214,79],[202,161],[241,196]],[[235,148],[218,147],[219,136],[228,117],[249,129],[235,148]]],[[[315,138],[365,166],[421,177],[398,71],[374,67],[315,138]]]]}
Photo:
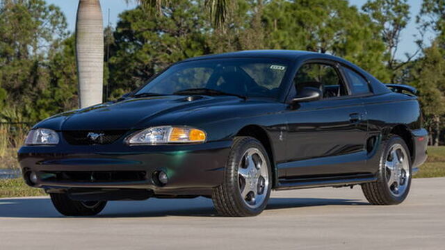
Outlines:
{"type": "Polygon", "coordinates": [[[224,58],[178,63],[133,97],[165,94],[277,98],[288,63],[268,58],[224,58]]]}

